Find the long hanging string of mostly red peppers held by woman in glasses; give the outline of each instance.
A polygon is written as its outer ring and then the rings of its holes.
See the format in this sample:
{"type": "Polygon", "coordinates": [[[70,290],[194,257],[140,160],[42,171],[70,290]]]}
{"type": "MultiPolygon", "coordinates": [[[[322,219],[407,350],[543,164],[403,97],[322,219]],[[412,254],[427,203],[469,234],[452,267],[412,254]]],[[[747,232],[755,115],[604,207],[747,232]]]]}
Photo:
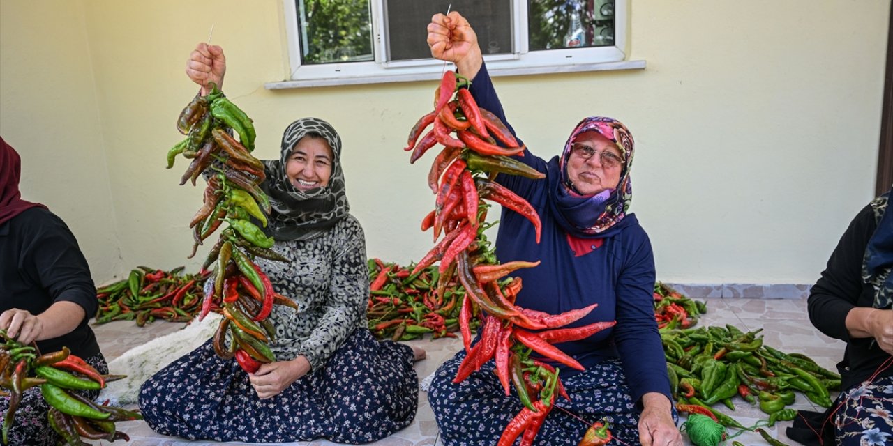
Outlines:
{"type": "MultiPolygon", "coordinates": [[[[511,394],[513,386],[524,406],[505,427],[497,445],[513,444],[519,436],[522,445],[529,445],[555,407],[556,396],[570,400],[558,377],[559,370],[531,357],[531,353],[583,369],[579,362],[552,344],[586,338],[613,326],[615,321],[561,328],[584,317],[596,305],[551,315],[514,304],[522,281],[506,276],[518,268],[536,267],[539,262],[497,262],[484,235],[492,225],[486,223],[489,204],[483,200],[497,202],[529,219],[539,242],[541,224],[537,211],[493,178],[497,174],[532,179],[545,178],[545,175],[510,158],[522,156],[525,148],[518,144],[505,123],[492,112],[478,107],[471,93],[463,88],[467,83],[467,79],[454,71],[445,72],[435,91],[434,110],[416,122],[407,138],[405,150],[412,151],[411,163],[431,147],[444,146],[428,176],[431,191],[437,195],[435,209],[421,222],[422,231],[433,229],[435,241],[441,232],[444,236],[410,274],[439,261],[438,288],[455,278],[463,286],[465,293],[458,322],[467,355],[454,382],[463,381],[489,359],[495,359],[495,373],[505,394],[511,394]],[[430,125],[433,128],[421,136],[430,125]],[[480,340],[473,347],[472,314],[482,325],[480,340]]],[[[592,434],[587,434],[581,445],[605,444],[610,439],[605,425],[597,423],[590,431],[592,434]]]]}

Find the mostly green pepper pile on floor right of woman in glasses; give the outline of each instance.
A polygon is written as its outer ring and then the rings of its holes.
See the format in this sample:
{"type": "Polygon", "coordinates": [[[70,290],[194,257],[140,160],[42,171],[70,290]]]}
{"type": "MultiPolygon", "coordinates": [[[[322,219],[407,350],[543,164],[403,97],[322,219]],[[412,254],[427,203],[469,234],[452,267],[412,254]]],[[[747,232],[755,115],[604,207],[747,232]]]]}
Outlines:
{"type": "Polygon", "coordinates": [[[736,326],[661,328],[664,356],[676,409],[714,418],[726,427],[745,429],[734,418],[714,409],[717,403],[734,410],[739,396],[769,415],[769,425],[797,416],[795,392],[828,408],[830,391],[839,390],[840,376],[799,353],[785,353],[763,343],[759,330],[736,326]]]}

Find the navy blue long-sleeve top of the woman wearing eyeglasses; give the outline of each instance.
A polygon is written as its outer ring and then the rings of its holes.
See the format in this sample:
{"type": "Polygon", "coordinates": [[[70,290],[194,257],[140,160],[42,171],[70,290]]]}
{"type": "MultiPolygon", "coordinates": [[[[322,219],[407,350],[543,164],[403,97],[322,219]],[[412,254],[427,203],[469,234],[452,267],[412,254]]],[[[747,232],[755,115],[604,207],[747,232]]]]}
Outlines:
{"type": "MultiPolygon", "coordinates": [[[[486,66],[472,79],[470,91],[480,108],[493,112],[508,125],[486,66]]],[[[547,161],[529,150],[524,151],[524,156],[514,158],[548,175],[547,161]]],[[[530,202],[542,221],[541,241],[537,244],[533,225],[522,215],[503,209],[499,219],[498,260],[501,263],[541,261],[537,268],[513,273],[523,281],[516,303],[551,314],[598,303],[595,310],[570,326],[610,320],[616,320],[617,324],[587,339],[556,346],[587,368],[605,359],[620,358],[633,401],[647,392],[661,392],[672,401],[666,359],[655,322],[654,252],[636,216],[629,214],[622,219],[618,224],[623,229],[616,235],[587,241],[591,243],[591,251],[577,256],[567,233],[549,210],[548,203],[553,197],[546,179],[499,175],[497,181],[530,202]]],[[[574,372],[572,368],[562,367],[563,375],[574,372]]]]}

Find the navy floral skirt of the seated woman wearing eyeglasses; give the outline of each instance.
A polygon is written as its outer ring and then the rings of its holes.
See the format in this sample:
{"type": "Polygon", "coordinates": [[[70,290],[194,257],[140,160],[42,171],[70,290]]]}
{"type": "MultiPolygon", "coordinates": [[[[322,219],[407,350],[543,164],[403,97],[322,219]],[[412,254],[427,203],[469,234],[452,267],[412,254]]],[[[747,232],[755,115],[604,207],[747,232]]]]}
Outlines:
{"type": "MultiPolygon", "coordinates": [[[[447,446],[496,444],[512,418],[523,408],[518,394],[506,396],[494,373],[493,360],[459,384],[455,372],[465,358],[460,351],[435,372],[428,401],[447,446]]],[[[562,377],[571,396],[555,400],[539,429],[534,444],[575,446],[589,425],[596,421],[611,424],[613,436],[622,444],[639,444],[638,410],[630,397],[620,361],[607,360],[577,375],[562,377]]],[[[675,418],[675,412],[673,414],[675,418]]]]}

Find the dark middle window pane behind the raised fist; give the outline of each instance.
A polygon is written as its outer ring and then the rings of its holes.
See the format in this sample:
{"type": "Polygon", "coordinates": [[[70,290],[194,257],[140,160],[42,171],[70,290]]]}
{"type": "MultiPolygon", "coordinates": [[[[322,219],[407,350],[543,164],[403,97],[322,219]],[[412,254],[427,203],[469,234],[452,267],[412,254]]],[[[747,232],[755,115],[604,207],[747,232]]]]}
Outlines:
{"type": "Polygon", "coordinates": [[[472,18],[484,54],[510,54],[512,0],[385,0],[388,61],[428,59],[428,24],[437,12],[462,12],[472,18]]]}

